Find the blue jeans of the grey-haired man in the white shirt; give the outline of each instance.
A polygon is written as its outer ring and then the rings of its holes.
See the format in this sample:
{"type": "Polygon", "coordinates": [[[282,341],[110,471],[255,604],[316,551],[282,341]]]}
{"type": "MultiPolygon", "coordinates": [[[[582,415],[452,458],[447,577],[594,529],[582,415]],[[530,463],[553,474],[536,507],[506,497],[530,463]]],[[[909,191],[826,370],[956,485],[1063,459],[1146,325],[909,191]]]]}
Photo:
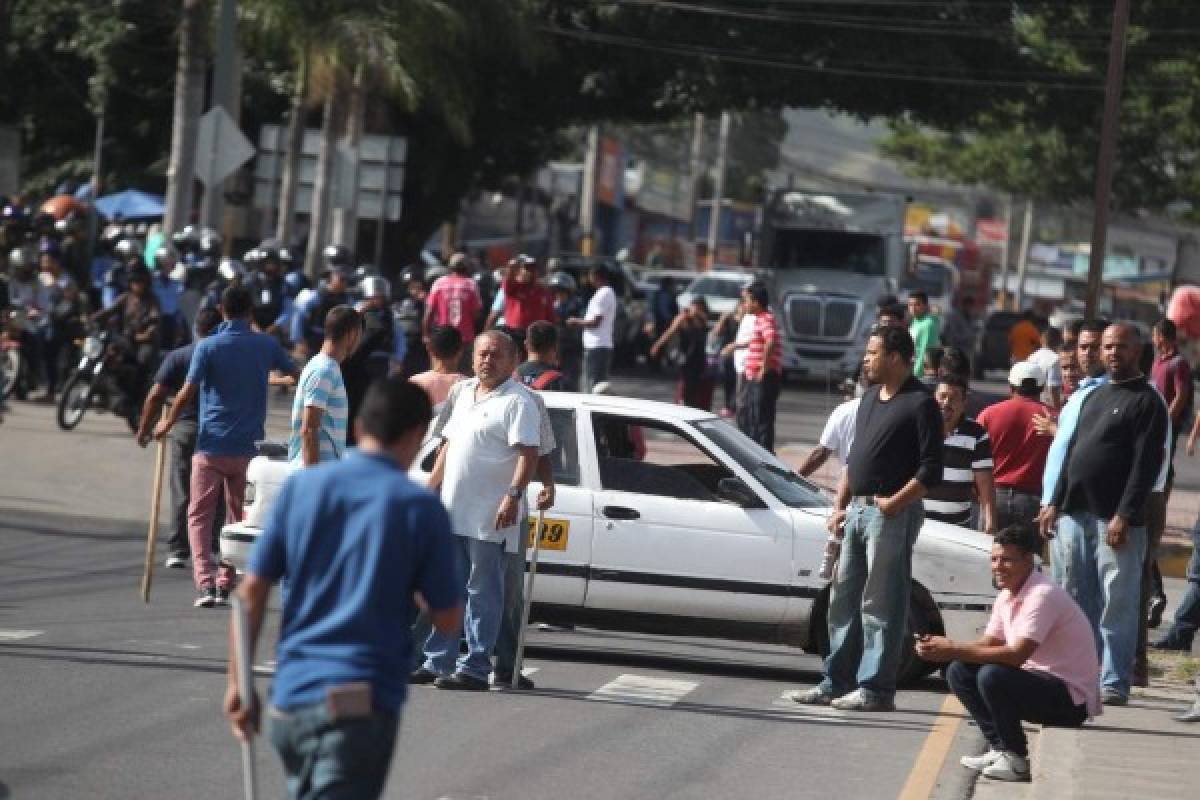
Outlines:
{"type": "Polygon", "coordinates": [[[439,675],[461,672],[487,680],[492,673],[492,648],[504,614],[504,542],[485,542],[469,536],[458,540],[467,573],[467,609],[463,614],[466,655],[458,655],[458,633],[436,630],[425,643],[425,668],[439,675]],[[457,658],[457,666],[455,660],[457,658]]]}

